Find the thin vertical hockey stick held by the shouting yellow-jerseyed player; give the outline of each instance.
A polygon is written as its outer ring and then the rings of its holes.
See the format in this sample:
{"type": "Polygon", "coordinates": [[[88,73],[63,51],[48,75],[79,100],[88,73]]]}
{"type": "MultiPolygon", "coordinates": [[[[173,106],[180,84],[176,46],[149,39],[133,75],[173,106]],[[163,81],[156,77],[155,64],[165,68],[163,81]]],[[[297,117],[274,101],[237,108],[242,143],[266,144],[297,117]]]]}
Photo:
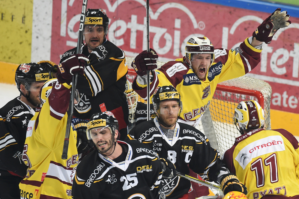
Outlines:
{"type": "MultiPolygon", "coordinates": [[[[149,0],[147,4],[147,52],[149,52],[149,0]]],[[[149,101],[149,70],[147,70],[147,121],[149,121],[150,101],[149,101]]]]}

